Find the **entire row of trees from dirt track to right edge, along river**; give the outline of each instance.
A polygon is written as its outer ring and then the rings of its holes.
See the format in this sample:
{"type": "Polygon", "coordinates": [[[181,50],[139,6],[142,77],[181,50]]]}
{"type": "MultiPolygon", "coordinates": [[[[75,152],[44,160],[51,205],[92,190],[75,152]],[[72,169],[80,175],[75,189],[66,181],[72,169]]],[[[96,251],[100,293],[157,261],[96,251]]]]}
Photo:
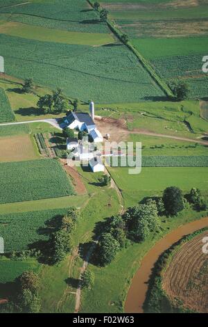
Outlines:
{"type": "Polygon", "coordinates": [[[107,218],[97,232],[101,235],[96,250],[96,261],[101,266],[110,264],[116,253],[129,241],[143,242],[161,227],[160,216],[175,216],[187,205],[194,209],[207,209],[199,189],[191,189],[185,197],[176,186],[167,187],[162,197],[146,198],[122,216],[107,218]]]}

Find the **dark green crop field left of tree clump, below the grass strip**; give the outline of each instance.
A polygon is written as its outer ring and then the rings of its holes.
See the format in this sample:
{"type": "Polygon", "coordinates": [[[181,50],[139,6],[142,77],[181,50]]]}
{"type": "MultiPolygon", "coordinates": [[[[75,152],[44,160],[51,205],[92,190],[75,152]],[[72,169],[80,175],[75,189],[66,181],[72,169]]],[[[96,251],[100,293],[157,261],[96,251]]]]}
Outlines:
{"type": "Polygon", "coordinates": [[[5,253],[28,249],[29,244],[49,238],[47,221],[62,216],[67,209],[48,209],[0,215],[0,234],[4,239],[5,253]]]}

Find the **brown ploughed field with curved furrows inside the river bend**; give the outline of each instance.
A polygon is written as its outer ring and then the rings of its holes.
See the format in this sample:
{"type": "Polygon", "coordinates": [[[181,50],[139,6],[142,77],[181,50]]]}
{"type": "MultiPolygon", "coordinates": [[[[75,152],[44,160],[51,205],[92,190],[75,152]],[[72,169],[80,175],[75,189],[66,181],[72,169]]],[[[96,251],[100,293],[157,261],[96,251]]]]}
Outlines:
{"type": "Polygon", "coordinates": [[[208,255],[202,252],[207,236],[207,231],[198,235],[173,255],[162,283],[173,302],[201,313],[208,312],[208,255]]]}

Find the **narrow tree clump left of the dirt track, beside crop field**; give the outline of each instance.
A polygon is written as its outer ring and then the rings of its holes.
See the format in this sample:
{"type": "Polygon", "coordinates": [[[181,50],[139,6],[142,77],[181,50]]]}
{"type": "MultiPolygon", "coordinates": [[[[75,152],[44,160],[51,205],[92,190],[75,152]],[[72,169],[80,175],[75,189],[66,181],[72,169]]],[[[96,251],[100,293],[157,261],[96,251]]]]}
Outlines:
{"type": "Polygon", "coordinates": [[[71,207],[67,214],[60,219],[58,229],[50,235],[49,246],[53,263],[58,263],[71,251],[71,232],[78,221],[79,212],[71,207]]]}

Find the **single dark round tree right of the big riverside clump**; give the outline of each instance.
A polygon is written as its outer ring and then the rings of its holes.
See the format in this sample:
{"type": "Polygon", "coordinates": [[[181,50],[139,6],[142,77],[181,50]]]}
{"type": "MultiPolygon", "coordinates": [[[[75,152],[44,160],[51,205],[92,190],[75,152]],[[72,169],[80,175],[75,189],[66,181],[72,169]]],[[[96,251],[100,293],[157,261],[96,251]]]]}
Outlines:
{"type": "Polygon", "coordinates": [[[182,191],[176,186],[170,186],[164,190],[163,202],[166,214],[170,216],[175,216],[184,209],[182,191]]]}

